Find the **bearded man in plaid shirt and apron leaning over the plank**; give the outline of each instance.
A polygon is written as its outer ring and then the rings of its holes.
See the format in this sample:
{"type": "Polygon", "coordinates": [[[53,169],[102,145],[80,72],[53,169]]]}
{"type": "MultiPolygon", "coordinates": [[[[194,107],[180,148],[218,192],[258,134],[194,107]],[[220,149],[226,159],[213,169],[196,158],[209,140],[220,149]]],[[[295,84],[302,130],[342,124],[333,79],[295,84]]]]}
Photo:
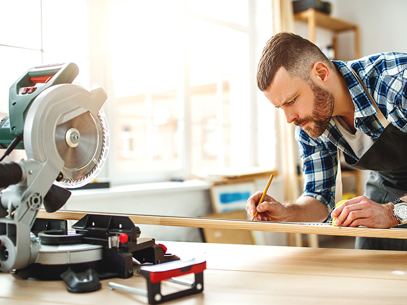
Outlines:
{"type": "MultiPolygon", "coordinates": [[[[407,54],[381,53],[350,62],[328,59],[292,33],[273,36],[257,68],[257,85],[296,126],[304,192],[280,203],[262,193],[247,202],[249,218],[391,228],[407,224],[407,54]],[[335,207],[338,151],[370,170],[364,196],[335,207]]],[[[357,237],[355,248],[407,251],[407,240],[357,237]]]]}

